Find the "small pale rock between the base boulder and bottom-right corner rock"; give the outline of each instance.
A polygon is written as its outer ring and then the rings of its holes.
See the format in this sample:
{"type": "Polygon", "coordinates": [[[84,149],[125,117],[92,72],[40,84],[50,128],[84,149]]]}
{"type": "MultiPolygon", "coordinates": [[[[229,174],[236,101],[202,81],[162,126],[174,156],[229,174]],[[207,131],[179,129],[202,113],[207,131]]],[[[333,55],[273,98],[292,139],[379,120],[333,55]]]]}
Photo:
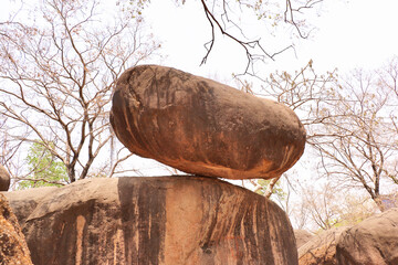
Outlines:
{"type": "Polygon", "coordinates": [[[335,227],[314,235],[298,247],[300,265],[336,265],[336,244],[347,227],[335,227]]]}

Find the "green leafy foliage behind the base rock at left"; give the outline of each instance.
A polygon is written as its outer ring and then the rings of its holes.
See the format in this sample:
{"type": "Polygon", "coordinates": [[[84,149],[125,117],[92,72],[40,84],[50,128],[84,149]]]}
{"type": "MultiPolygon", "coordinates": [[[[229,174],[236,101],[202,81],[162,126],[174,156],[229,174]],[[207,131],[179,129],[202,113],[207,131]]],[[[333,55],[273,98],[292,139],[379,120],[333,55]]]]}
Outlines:
{"type": "Polygon", "coordinates": [[[32,180],[20,181],[18,183],[19,190],[49,186],[61,187],[63,183],[67,183],[65,165],[56,159],[41,142],[34,142],[30,147],[25,161],[32,172],[30,176],[32,180]]]}

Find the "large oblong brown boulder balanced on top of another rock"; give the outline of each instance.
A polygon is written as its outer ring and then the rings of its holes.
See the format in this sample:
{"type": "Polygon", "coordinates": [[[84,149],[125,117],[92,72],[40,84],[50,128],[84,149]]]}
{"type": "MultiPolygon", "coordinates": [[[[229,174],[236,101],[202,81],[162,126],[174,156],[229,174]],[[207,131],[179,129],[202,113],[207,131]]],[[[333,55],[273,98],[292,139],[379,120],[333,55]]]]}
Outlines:
{"type": "Polygon", "coordinates": [[[119,77],[111,123],[132,152],[207,177],[274,178],[305,145],[303,125],[289,107],[156,65],[119,77]]]}

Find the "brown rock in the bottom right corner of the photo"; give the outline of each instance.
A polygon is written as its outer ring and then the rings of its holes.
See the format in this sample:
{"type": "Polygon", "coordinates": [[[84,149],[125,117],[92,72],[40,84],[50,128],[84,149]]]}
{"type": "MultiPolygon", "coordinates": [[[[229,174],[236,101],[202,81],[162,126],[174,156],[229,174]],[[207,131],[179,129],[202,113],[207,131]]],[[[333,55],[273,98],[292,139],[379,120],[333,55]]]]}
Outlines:
{"type": "Polygon", "coordinates": [[[398,264],[398,208],[366,219],[337,242],[339,265],[398,264]]]}

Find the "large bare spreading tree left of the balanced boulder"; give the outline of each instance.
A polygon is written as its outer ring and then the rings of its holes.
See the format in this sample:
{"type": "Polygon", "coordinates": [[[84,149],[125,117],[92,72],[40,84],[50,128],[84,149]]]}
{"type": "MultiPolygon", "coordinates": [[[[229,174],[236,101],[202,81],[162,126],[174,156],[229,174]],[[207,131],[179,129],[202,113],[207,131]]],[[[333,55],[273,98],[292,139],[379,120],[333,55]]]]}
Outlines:
{"type": "MultiPolygon", "coordinates": [[[[15,13],[0,22],[0,115],[13,128],[1,137],[12,138],[14,146],[43,145],[66,166],[73,182],[90,176],[101,151],[109,149],[116,78],[159,45],[142,36],[139,17],[105,15],[109,10],[98,0],[36,4],[19,11],[30,17],[15,13]]],[[[109,174],[132,156],[121,149],[113,153],[111,163],[98,161],[109,174]]]]}

